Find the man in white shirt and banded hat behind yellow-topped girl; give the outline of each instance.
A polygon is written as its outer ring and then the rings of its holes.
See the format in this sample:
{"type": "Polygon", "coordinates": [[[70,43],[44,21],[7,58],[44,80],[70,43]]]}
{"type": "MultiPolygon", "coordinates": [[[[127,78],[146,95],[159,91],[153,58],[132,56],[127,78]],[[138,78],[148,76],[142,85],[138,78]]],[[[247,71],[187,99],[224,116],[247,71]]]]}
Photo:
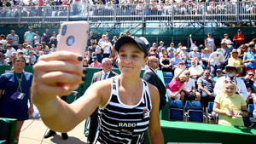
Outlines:
{"type": "Polygon", "coordinates": [[[225,70],[224,70],[225,76],[217,79],[215,87],[213,89],[213,94],[215,96],[220,94],[222,85],[224,84],[224,80],[226,78],[230,78],[232,81],[236,83],[237,93],[246,100],[248,95],[247,87],[241,78],[236,77],[236,73],[239,73],[239,71],[241,71],[241,67],[229,66],[229,65],[225,66],[225,70]]]}

